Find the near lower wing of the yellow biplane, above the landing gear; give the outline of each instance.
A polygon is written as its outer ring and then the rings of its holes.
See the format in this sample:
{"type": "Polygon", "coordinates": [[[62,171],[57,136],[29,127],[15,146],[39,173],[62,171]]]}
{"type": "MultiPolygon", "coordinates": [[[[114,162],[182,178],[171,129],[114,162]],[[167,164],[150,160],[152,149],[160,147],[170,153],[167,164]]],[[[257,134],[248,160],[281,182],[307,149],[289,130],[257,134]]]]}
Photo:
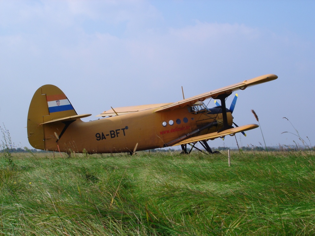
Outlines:
{"type": "Polygon", "coordinates": [[[255,125],[255,124],[238,126],[238,127],[235,127],[235,128],[224,130],[222,132],[213,132],[213,133],[208,133],[208,134],[204,134],[204,135],[200,135],[200,136],[196,136],[196,137],[192,137],[192,138],[187,138],[187,139],[185,139],[183,141],[180,141],[179,143],[173,144],[172,146],[177,146],[177,145],[186,144],[186,143],[194,143],[194,142],[207,140],[207,139],[213,140],[213,139],[219,138],[219,137],[223,138],[226,135],[233,136],[236,133],[239,133],[239,132],[242,132],[242,131],[251,130],[251,129],[255,129],[257,127],[259,127],[259,126],[255,125]]]}

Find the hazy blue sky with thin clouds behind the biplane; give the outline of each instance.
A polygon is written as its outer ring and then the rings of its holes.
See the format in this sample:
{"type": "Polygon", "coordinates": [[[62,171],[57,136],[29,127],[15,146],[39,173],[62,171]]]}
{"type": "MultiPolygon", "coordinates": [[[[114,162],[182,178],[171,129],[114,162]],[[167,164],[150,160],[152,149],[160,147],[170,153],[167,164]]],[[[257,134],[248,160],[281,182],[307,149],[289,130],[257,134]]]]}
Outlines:
{"type": "MultiPolygon", "coordinates": [[[[296,134],[290,122],[314,145],[314,12],[315,1],[0,0],[0,125],[30,147],[28,106],[44,84],[88,121],[111,106],[181,100],[181,86],[188,98],[271,73],[279,78],[238,92],[234,121],[257,123],[254,109],[268,146],[302,145],[281,134],[296,134]]],[[[263,143],[259,128],[236,138],[263,143]]]]}

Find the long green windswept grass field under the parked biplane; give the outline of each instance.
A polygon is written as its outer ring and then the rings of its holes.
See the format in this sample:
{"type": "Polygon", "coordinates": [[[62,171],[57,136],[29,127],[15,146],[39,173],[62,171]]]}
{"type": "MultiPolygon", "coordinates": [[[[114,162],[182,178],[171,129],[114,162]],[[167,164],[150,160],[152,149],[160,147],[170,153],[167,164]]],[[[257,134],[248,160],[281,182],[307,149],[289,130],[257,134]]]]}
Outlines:
{"type": "Polygon", "coordinates": [[[0,235],[313,235],[312,152],[0,158],[0,235]]]}

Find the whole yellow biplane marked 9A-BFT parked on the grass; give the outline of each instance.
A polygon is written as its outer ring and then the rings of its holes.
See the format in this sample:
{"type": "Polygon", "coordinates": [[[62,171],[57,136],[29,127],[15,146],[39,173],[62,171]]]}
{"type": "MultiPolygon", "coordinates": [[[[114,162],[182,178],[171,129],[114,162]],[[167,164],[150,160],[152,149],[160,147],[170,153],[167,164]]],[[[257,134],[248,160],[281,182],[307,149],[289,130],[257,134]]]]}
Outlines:
{"type": "Polygon", "coordinates": [[[194,147],[200,142],[214,153],[208,140],[233,136],[257,128],[258,125],[237,126],[232,112],[237,96],[229,109],[225,100],[238,89],[277,79],[276,75],[264,75],[186,98],[175,103],[118,107],[101,113],[101,118],[84,122],[66,95],[54,85],[44,85],[35,92],[27,117],[27,135],[32,147],[60,152],[87,152],[133,154],[136,150],[148,150],[181,145],[187,152],[187,144],[194,147]],[[221,101],[208,108],[203,101],[215,98],[221,101]],[[236,127],[233,127],[232,125],[236,127]]]}

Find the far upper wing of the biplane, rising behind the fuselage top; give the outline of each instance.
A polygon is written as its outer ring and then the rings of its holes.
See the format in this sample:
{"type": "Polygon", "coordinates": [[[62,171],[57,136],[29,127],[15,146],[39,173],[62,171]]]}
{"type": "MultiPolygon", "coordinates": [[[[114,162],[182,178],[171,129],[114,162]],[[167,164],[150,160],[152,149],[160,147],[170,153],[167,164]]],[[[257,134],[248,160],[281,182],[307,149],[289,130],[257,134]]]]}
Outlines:
{"type": "Polygon", "coordinates": [[[142,111],[142,110],[147,110],[147,109],[152,109],[152,108],[157,108],[157,107],[163,107],[166,105],[169,105],[172,103],[160,103],[160,104],[149,104],[149,105],[140,105],[140,106],[129,106],[129,107],[116,107],[114,109],[104,111],[100,115],[96,116],[112,116],[116,115],[123,115],[123,114],[128,114],[131,112],[136,112],[136,111],[142,111]]]}

